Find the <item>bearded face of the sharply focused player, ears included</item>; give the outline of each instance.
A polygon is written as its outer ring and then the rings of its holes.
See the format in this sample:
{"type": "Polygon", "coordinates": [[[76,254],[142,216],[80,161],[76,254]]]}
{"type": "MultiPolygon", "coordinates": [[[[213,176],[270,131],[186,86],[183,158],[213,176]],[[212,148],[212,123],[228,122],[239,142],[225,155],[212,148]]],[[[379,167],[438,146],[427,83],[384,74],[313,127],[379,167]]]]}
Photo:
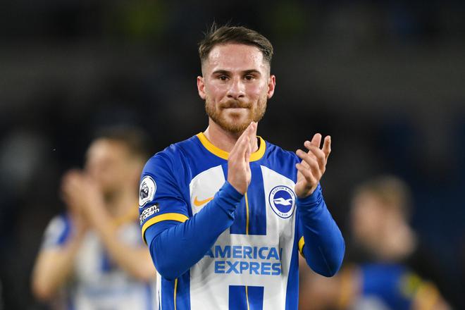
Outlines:
{"type": "Polygon", "coordinates": [[[211,49],[197,77],[199,95],[214,123],[239,133],[258,122],[273,96],[275,76],[256,46],[221,44],[211,49]]]}

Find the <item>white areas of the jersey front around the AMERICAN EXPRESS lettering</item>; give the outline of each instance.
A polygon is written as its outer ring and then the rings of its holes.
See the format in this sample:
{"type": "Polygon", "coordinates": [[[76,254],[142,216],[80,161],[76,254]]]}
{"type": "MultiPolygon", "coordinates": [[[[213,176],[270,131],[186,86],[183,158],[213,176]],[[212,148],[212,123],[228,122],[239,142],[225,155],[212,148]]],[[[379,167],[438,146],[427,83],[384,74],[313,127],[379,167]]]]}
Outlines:
{"type": "MultiPolygon", "coordinates": [[[[228,309],[230,285],[264,287],[263,309],[285,309],[287,277],[289,275],[292,247],[294,245],[295,211],[288,218],[278,216],[271,209],[268,197],[271,190],[277,186],[286,186],[293,190],[294,182],[265,166],[261,166],[261,173],[263,176],[265,197],[263,208],[266,208],[266,235],[230,234],[230,230],[228,229],[218,237],[213,247],[220,246],[222,249],[228,246],[273,247],[278,249],[278,251],[283,249],[280,257],[280,275],[255,275],[249,273],[217,274],[215,273],[216,259],[204,256],[203,259],[190,269],[191,309],[228,309]]],[[[224,182],[225,178],[221,166],[210,168],[193,178],[190,182],[192,213],[197,213],[203,207],[203,205],[195,206],[195,199],[199,202],[213,197],[224,182]]],[[[226,260],[236,261],[237,259],[230,257],[230,259],[226,260]]],[[[242,258],[241,261],[261,263],[266,260],[260,258],[242,258]]]]}

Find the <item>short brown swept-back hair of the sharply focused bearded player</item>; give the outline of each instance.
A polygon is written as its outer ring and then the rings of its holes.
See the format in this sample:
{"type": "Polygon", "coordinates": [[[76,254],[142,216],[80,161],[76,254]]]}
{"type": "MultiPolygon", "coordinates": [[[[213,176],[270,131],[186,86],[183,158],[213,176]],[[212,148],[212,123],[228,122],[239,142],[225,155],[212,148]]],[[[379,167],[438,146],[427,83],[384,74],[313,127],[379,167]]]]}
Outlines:
{"type": "Polygon", "coordinates": [[[246,27],[230,25],[218,27],[216,23],[211,25],[210,29],[205,33],[204,39],[199,42],[200,61],[204,63],[214,46],[226,43],[237,43],[258,47],[263,54],[263,59],[271,66],[273,45],[271,45],[271,42],[268,41],[266,37],[246,27]]]}

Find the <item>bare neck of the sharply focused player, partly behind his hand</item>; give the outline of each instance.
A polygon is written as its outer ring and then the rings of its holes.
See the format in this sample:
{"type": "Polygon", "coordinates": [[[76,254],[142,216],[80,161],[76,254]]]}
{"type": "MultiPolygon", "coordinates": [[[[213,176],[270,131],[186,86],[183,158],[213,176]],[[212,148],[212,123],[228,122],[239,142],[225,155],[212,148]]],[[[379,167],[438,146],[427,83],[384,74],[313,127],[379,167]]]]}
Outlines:
{"type": "MultiPolygon", "coordinates": [[[[204,135],[215,147],[230,153],[237,140],[242,135],[242,132],[229,132],[228,130],[221,128],[218,124],[213,122],[211,118],[209,118],[209,127],[207,127],[204,131],[204,135]]],[[[250,140],[250,145],[252,147],[252,153],[259,149],[256,136],[250,140]]]]}

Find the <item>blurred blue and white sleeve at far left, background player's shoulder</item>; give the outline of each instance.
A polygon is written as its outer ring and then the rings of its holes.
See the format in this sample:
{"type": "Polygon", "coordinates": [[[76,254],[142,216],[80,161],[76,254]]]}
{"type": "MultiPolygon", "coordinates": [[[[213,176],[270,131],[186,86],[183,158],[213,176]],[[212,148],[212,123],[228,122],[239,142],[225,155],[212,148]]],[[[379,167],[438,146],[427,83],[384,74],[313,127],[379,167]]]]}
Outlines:
{"type": "Polygon", "coordinates": [[[66,215],[55,216],[47,225],[42,241],[42,249],[61,247],[71,233],[70,220],[66,215]]]}

